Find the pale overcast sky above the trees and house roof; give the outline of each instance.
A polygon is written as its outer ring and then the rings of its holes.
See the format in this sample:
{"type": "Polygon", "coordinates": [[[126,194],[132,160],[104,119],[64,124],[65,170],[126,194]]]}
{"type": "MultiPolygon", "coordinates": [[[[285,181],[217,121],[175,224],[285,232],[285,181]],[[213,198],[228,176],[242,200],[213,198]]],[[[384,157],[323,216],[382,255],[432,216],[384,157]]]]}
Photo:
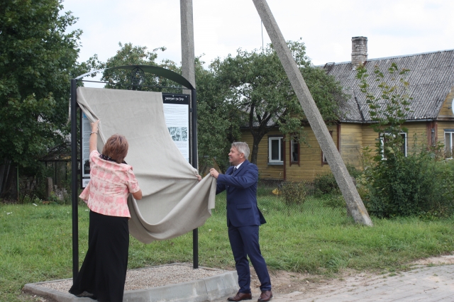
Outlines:
{"type": "MultiPolygon", "coordinates": [[[[453,0],[267,0],[286,40],[302,38],[314,65],[351,60],[351,38],[368,38],[368,57],[454,49],[453,0]]],[[[179,0],[65,0],[83,30],[79,62],[115,55],[118,42],[165,46],[158,61],[181,62],[179,0]]],[[[252,0],[193,0],[195,55],[262,47],[252,0]]],[[[263,28],[263,42],[270,38],[263,28]]]]}

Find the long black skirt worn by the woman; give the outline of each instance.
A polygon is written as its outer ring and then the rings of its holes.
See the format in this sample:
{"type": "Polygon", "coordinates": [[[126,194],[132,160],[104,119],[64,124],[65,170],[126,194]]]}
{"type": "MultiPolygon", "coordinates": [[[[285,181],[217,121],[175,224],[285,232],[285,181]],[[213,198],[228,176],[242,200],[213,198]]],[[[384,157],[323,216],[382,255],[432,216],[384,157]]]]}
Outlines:
{"type": "Polygon", "coordinates": [[[88,251],[70,293],[92,293],[101,302],[123,301],[128,267],[127,217],[90,211],[88,251]]]}

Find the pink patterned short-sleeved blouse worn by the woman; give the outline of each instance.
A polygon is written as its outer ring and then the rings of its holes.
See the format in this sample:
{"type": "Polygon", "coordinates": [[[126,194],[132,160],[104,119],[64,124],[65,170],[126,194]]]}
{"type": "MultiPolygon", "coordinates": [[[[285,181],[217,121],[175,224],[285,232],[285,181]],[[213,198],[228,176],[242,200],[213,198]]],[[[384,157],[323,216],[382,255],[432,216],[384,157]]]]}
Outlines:
{"type": "Polygon", "coordinates": [[[90,210],[108,216],[131,218],[128,196],[139,189],[129,164],[102,160],[96,150],[90,153],[90,182],[79,196],[90,210]]]}

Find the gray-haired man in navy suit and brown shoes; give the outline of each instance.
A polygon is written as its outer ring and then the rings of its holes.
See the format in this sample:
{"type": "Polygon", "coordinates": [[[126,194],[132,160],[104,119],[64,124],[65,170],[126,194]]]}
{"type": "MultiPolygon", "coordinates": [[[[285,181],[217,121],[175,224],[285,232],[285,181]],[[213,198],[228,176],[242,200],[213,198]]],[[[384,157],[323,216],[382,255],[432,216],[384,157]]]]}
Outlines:
{"type": "Polygon", "coordinates": [[[248,161],[248,156],[247,143],[233,142],[228,153],[232,166],[226,174],[219,174],[216,169],[210,169],[210,174],[218,179],[216,194],[227,190],[228,239],[240,286],[236,296],[228,301],[252,299],[248,256],[261,283],[258,301],[263,302],[272,298],[270,274],[258,243],[258,228],[266,221],[257,206],[258,168],[248,161]]]}

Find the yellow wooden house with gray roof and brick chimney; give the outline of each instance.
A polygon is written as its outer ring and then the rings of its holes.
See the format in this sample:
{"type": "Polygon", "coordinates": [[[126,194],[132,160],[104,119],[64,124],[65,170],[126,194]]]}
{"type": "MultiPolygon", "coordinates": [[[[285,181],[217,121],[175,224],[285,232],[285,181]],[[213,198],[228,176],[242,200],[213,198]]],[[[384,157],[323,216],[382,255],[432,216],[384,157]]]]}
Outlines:
{"type": "MultiPolygon", "coordinates": [[[[404,124],[408,133],[402,133],[405,138],[404,152],[411,152],[422,145],[441,143],[445,145],[445,154],[449,157],[454,147],[454,50],[367,59],[365,37],[352,38],[352,50],[350,62],[327,63],[322,67],[327,74],[336,77],[350,95],[345,108],[342,108],[345,118],[328,125],[345,164],[361,168],[363,147],[370,146],[375,150],[375,142],[380,140],[370,127],[372,119],[365,95],[359,89],[358,79],[355,79],[355,69],[360,63],[367,68],[370,74],[368,84],[375,91],[375,65],[384,74],[392,62],[397,63],[399,69],[410,69],[407,79],[413,100],[404,124]]],[[[257,164],[260,179],[311,181],[317,174],[331,172],[310,125],[307,124],[305,129],[310,146],[299,145],[292,138],[284,139],[277,126],[270,125],[270,131],[259,144],[257,164]]],[[[252,146],[253,138],[248,130],[243,130],[242,135],[242,140],[252,146]]]]}

